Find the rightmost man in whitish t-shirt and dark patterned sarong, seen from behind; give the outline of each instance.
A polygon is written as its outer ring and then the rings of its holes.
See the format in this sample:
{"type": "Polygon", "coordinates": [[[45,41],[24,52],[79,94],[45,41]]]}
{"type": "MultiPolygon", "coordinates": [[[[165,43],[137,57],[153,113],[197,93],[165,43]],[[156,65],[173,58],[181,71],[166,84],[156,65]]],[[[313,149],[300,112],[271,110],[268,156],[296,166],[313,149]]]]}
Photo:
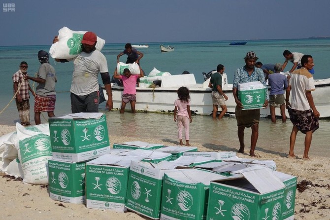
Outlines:
{"type": "Polygon", "coordinates": [[[302,159],[309,160],[308,151],[312,143],[312,135],[319,128],[318,118],[320,117],[311,93],[311,91],[315,90],[313,75],[309,72],[314,67],[313,57],[303,55],[301,66],[302,68],[291,74],[285,99],[290,120],[294,125],[290,136],[288,158],[296,158],[294,147],[297,132],[301,131],[305,134],[305,150],[302,159]],[[290,91],[292,91],[291,104],[289,102],[290,91]]]}

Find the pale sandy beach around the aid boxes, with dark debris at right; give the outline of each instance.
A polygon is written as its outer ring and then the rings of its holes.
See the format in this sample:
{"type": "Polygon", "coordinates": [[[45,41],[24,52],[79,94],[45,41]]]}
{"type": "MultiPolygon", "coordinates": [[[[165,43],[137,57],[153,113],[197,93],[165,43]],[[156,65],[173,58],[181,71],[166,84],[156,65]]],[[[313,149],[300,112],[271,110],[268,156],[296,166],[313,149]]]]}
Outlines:
{"type": "MultiPolygon", "coordinates": [[[[15,126],[1,125],[0,136],[15,131],[15,126]]],[[[109,134],[111,143],[127,141],[143,141],[173,145],[161,139],[145,139],[130,136],[114,136],[109,134]]],[[[194,143],[198,151],[210,151],[212,146],[194,143]]],[[[232,146],[227,146],[235,148],[232,146]]],[[[295,220],[329,220],[330,219],[330,163],[327,157],[313,156],[312,160],[288,159],[287,153],[267,153],[256,151],[261,158],[276,162],[277,171],[297,176],[297,192],[295,220]]],[[[247,154],[237,156],[249,158],[247,154]]],[[[33,219],[33,220],[143,220],[148,219],[135,213],[116,213],[108,210],[86,208],[85,205],[62,203],[50,199],[48,187],[31,185],[0,173],[0,206],[2,220],[33,219]]]]}

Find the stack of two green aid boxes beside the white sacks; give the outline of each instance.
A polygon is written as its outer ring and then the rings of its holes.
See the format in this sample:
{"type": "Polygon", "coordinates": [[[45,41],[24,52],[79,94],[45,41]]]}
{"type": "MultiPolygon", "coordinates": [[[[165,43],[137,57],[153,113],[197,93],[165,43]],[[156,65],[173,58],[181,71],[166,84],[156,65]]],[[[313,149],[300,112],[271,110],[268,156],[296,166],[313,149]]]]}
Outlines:
{"type": "Polygon", "coordinates": [[[50,197],[84,204],[85,164],[110,152],[103,113],[72,113],[49,118],[53,159],[48,160],[50,197]]]}

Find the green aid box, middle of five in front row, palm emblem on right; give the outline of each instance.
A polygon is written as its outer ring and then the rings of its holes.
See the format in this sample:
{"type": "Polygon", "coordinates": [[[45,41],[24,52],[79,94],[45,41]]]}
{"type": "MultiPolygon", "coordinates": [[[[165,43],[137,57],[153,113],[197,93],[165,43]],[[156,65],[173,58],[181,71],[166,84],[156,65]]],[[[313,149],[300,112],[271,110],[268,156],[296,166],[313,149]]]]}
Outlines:
{"type": "Polygon", "coordinates": [[[158,164],[132,161],[125,206],[140,215],[159,219],[164,172],[176,168],[184,167],[169,161],[158,164]]]}

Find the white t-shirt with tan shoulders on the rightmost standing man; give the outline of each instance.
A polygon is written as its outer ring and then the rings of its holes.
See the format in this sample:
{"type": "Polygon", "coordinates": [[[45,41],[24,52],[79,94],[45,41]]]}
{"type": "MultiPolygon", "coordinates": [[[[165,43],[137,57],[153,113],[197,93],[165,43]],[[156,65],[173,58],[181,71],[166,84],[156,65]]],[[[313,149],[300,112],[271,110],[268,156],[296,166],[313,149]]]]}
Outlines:
{"type": "Polygon", "coordinates": [[[291,73],[290,85],[292,91],[291,108],[295,110],[310,110],[306,92],[314,91],[314,78],[305,68],[291,73]]]}

